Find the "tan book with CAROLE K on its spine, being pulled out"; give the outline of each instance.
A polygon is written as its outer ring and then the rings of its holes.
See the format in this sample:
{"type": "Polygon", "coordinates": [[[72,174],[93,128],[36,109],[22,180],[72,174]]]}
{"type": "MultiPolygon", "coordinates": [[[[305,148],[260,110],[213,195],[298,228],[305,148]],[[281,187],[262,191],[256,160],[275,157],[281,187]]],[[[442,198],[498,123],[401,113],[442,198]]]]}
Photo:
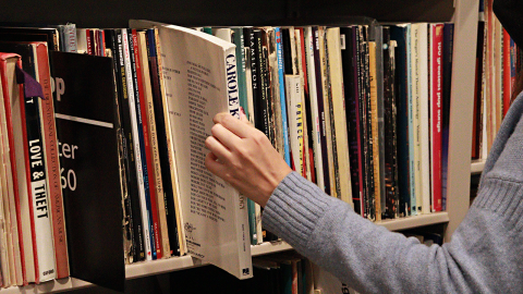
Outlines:
{"type": "Polygon", "coordinates": [[[171,132],[179,204],[187,252],[239,279],[253,274],[247,203],[204,164],[212,118],[239,118],[235,46],[194,29],[131,21],[131,27],[156,27],[166,87],[166,124],[171,132]]]}

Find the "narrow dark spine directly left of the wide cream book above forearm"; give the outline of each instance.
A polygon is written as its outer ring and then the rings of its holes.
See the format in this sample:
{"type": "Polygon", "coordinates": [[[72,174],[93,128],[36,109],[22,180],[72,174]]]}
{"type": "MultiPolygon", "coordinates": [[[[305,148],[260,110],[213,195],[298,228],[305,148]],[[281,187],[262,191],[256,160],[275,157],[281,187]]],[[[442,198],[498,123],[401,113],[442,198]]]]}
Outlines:
{"type": "Polygon", "coordinates": [[[319,140],[320,140],[320,157],[324,173],[324,184],[320,186],[327,195],[331,194],[330,191],[330,177],[329,177],[329,154],[327,150],[327,125],[325,118],[325,102],[324,90],[321,81],[321,57],[320,57],[320,36],[317,26],[313,27],[313,53],[314,53],[314,69],[315,69],[315,83],[316,83],[316,100],[318,105],[318,127],[319,127],[319,140]]]}

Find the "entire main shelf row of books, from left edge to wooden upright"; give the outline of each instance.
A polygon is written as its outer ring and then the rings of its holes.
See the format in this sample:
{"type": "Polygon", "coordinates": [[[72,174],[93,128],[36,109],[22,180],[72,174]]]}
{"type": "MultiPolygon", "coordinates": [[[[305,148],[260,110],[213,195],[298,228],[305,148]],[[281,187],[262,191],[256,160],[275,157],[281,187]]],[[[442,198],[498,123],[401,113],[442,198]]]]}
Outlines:
{"type": "Polygon", "coordinates": [[[93,275],[101,243],[119,244],[104,253],[112,274],[124,274],[122,257],[191,254],[252,277],[246,243],[276,236],[263,230],[259,206],[204,167],[212,117],[240,108],[289,166],[362,217],[445,209],[452,24],[130,26],[0,28],[11,41],[0,50],[11,64],[2,72],[4,285],[93,275]],[[13,86],[14,64],[44,94],[13,86]],[[42,204],[47,231],[36,224],[42,204]]]}

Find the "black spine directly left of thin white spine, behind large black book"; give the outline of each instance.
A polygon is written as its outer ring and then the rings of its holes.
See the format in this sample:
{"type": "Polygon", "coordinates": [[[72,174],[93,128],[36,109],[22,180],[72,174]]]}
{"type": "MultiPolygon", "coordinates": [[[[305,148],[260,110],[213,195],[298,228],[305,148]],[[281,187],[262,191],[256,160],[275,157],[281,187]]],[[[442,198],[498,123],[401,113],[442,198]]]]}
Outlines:
{"type": "MultiPolygon", "coordinates": [[[[119,44],[117,32],[114,29],[106,29],[106,46],[112,51],[112,61],[114,66],[114,81],[117,89],[117,134],[118,134],[118,150],[120,157],[120,177],[122,182],[122,195],[123,195],[123,218],[124,218],[124,230],[126,230],[125,235],[129,241],[131,241],[130,255],[133,257],[134,261],[144,260],[145,258],[145,248],[144,240],[142,232],[142,216],[139,210],[136,215],[136,209],[134,207],[139,207],[139,203],[136,203],[138,199],[138,186],[136,182],[136,175],[131,173],[131,169],[135,170],[134,162],[132,162],[132,157],[129,157],[130,148],[129,142],[125,136],[126,130],[124,128],[124,122],[127,120],[129,124],[129,114],[125,115],[123,112],[123,96],[126,96],[126,93],[123,93],[122,83],[122,73],[121,73],[121,59],[119,53],[119,44]],[[131,167],[132,166],[132,167],[131,167]],[[134,206],[134,207],[133,207],[134,206]]],[[[121,38],[121,36],[120,36],[121,38]]],[[[121,45],[120,45],[121,46],[121,45]]],[[[129,127],[129,125],[127,125],[129,127]]]]}

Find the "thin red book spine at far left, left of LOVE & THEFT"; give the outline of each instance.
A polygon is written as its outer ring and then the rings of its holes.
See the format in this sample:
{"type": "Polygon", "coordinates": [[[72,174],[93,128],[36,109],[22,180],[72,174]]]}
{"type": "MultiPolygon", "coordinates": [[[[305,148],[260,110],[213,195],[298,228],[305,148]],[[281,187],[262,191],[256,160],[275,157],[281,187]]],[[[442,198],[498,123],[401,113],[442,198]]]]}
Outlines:
{"type": "MultiPolygon", "coordinates": [[[[9,93],[8,88],[8,72],[7,72],[7,59],[16,57],[17,60],[17,65],[22,68],[22,60],[20,59],[20,56],[15,53],[0,53],[0,71],[1,71],[1,81],[2,83],[2,90],[3,90],[3,106],[5,108],[5,121],[7,121],[7,126],[8,126],[8,137],[9,137],[9,146],[11,146],[9,150],[9,156],[11,159],[11,172],[13,173],[13,191],[14,191],[14,203],[15,203],[15,209],[16,209],[16,222],[17,222],[17,228],[19,228],[19,246],[20,246],[20,259],[22,262],[22,275],[23,275],[23,281],[24,285],[27,285],[27,275],[26,275],[26,269],[25,269],[25,255],[24,255],[24,238],[23,238],[23,233],[22,233],[22,212],[21,212],[21,207],[20,207],[20,193],[19,193],[19,176],[16,173],[16,156],[15,156],[15,148],[14,148],[14,135],[13,135],[13,120],[12,120],[12,113],[11,113],[11,96],[9,93]]],[[[20,90],[22,93],[22,86],[20,86],[20,90]]],[[[22,117],[25,115],[24,110],[22,110],[22,117]]],[[[25,119],[24,119],[25,120],[25,119]]],[[[22,124],[24,127],[24,124],[22,124]]],[[[25,127],[24,127],[25,130],[25,127]]],[[[13,244],[16,245],[16,244],[13,244]]]]}

